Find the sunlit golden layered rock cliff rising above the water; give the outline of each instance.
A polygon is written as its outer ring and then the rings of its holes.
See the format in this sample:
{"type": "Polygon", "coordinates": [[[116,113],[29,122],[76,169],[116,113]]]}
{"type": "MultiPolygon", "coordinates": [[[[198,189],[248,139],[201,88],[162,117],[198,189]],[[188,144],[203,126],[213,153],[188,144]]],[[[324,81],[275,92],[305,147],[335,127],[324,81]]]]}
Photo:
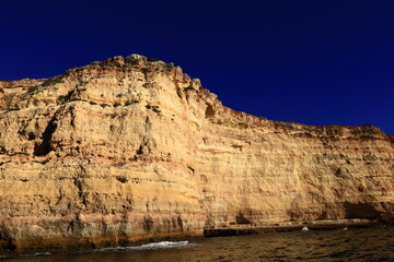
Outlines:
{"type": "Polygon", "coordinates": [[[224,107],[131,55],[0,82],[0,253],[394,215],[394,136],[224,107]]]}

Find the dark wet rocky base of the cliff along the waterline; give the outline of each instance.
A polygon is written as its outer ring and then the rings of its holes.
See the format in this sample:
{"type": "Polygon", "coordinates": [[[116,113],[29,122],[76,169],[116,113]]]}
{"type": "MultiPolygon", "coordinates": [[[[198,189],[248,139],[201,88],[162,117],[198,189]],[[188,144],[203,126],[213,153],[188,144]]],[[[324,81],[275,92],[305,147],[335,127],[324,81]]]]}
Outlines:
{"type": "Polygon", "coordinates": [[[204,228],[194,231],[147,235],[134,238],[70,238],[70,239],[45,239],[44,241],[31,240],[21,241],[18,245],[18,252],[9,250],[0,258],[18,255],[34,255],[37,253],[74,253],[90,252],[102,248],[137,247],[141,245],[160,241],[194,241],[198,238],[230,237],[255,235],[265,233],[287,233],[298,230],[348,230],[350,228],[368,228],[385,226],[387,224],[369,219],[341,219],[341,221],[318,221],[304,223],[279,223],[273,225],[235,225],[221,228],[204,228]]]}

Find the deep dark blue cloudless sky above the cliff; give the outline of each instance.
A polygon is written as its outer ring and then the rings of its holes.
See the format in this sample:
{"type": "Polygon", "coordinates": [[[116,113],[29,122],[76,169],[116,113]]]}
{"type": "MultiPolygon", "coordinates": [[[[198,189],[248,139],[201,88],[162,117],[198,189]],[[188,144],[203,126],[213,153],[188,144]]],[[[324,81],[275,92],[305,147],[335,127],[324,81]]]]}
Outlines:
{"type": "Polygon", "coordinates": [[[0,80],[174,62],[235,110],[394,134],[394,1],[0,1],[0,80]]]}

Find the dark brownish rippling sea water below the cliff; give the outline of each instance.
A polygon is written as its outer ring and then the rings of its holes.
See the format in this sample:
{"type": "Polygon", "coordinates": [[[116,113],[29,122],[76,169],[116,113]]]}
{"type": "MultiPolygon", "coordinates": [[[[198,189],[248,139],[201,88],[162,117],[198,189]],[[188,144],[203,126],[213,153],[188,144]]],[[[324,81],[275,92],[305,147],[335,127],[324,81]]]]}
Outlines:
{"type": "Polygon", "coordinates": [[[264,233],[162,241],[89,252],[2,258],[7,262],[394,261],[394,227],[264,233]]]}

